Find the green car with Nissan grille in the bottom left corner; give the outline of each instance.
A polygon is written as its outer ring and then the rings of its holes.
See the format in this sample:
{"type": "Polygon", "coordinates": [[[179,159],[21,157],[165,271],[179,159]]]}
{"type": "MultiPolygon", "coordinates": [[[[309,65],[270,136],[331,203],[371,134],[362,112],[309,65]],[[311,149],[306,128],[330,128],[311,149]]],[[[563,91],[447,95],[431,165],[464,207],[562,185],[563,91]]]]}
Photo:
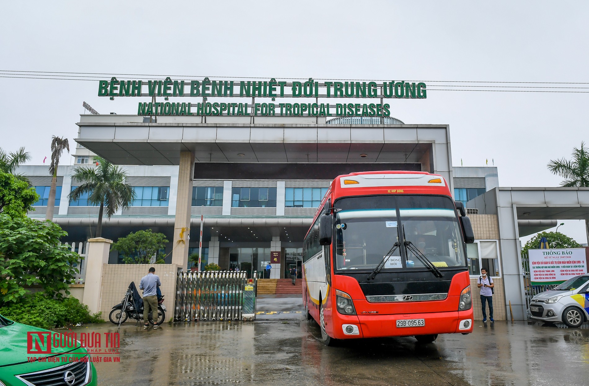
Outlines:
{"type": "Polygon", "coordinates": [[[0,315],[0,386],[97,385],[87,350],[78,341],[52,347],[55,334],[0,315]]]}

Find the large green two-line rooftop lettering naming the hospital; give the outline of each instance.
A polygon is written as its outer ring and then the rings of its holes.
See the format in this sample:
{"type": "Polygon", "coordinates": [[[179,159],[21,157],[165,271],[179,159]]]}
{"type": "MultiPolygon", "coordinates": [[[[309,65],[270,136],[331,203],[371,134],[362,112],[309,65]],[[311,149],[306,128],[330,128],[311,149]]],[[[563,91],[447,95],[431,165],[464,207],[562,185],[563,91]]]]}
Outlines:
{"type": "Polygon", "coordinates": [[[223,81],[204,78],[203,81],[119,81],[113,77],[98,81],[98,96],[150,96],[151,102],[139,102],[137,115],[254,115],[263,117],[390,117],[391,105],[383,99],[425,99],[423,82],[365,82],[326,81],[309,79],[305,82],[223,81]],[[155,102],[155,97],[164,102],[155,102]],[[202,102],[166,102],[170,97],[191,96],[202,102]],[[207,102],[209,97],[253,98],[251,104],[207,102]],[[256,103],[254,98],[315,98],[313,103],[256,103]],[[374,98],[380,103],[319,103],[319,98],[374,98]]]}

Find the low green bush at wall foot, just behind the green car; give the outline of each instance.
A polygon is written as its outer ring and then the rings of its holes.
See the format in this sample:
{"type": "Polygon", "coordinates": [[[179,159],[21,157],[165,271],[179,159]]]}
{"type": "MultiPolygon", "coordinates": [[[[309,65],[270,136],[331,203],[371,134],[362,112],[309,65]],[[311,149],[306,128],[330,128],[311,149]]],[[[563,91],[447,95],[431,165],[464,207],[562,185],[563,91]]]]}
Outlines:
{"type": "Polygon", "coordinates": [[[18,303],[0,307],[0,314],[15,322],[47,329],[103,322],[101,312],[90,315],[88,306],[81,304],[76,298],[57,300],[42,292],[28,296],[18,303]]]}

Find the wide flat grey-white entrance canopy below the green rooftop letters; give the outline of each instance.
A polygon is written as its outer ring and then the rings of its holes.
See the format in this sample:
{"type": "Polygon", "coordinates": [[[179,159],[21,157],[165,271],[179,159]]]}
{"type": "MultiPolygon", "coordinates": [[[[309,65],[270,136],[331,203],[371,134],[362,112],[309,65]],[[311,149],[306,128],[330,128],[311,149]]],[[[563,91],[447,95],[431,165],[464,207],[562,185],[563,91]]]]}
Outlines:
{"type": "Polygon", "coordinates": [[[193,151],[196,162],[421,162],[433,168],[435,145],[449,145],[446,125],[299,124],[279,117],[268,123],[256,118],[256,124],[204,124],[200,117],[157,124],[133,115],[81,118],[76,141],[124,165],[178,165],[180,151],[193,151]]]}

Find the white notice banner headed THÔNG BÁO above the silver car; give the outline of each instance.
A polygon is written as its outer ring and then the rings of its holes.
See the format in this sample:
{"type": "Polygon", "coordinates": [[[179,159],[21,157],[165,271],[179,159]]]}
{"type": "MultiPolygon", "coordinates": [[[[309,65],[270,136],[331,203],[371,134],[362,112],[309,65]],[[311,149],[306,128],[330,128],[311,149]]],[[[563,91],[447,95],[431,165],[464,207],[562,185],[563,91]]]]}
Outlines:
{"type": "Polygon", "coordinates": [[[532,285],[560,284],[587,273],[585,248],[528,249],[532,285]]]}

